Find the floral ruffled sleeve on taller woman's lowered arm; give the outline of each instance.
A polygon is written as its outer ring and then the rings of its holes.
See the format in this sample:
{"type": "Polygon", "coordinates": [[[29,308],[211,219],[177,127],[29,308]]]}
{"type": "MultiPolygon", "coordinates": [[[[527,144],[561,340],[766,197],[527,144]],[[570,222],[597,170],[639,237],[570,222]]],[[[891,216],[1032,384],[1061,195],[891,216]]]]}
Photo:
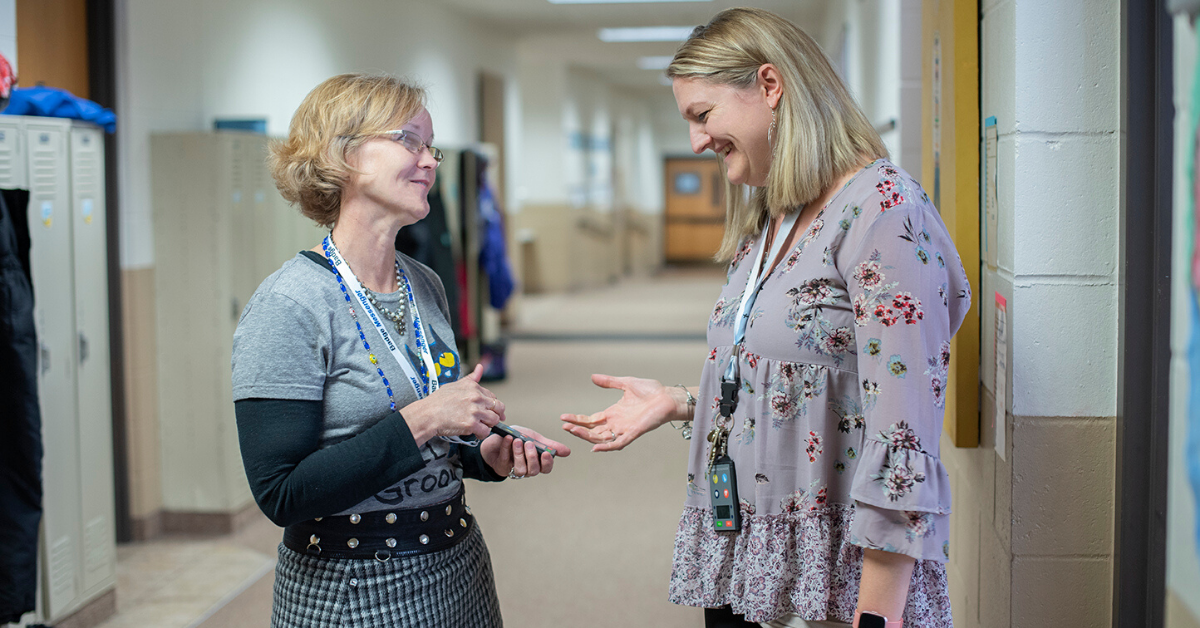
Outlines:
{"type": "Polygon", "coordinates": [[[854,311],[865,419],[851,543],[946,562],[950,484],[938,438],[950,336],[970,306],[970,286],[928,202],[884,205],[856,227],[863,229],[847,238],[851,253],[839,264],[854,311]]]}

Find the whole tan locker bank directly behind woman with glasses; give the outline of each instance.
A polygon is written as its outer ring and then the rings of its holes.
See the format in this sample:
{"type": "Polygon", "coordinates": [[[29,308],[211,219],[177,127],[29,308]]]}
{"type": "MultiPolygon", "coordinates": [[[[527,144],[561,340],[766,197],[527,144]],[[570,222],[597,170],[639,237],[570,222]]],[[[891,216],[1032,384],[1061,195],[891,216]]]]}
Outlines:
{"type": "Polygon", "coordinates": [[[233,331],[258,285],[320,237],[276,191],[266,145],[236,132],[151,138],[167,510],[232,514],[251,503],[233,415],[233,331]]]}

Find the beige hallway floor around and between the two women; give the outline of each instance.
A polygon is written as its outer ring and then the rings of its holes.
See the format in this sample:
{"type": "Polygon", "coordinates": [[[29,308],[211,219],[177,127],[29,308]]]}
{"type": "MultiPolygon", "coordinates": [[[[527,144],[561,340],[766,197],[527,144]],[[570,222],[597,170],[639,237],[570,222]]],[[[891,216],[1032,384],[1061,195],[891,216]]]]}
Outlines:
{"type": "MultiPolygon", "coordinates": [[[[593,454],[559,427],[563,412],[618,399],[589,375],[694,384],[719,270],[671,269],[572,294],[526,297],[508,379],[490,384],[510,423],[566,442],[572,455],[527,482],[468,484],[506,626],[694,627],[667,602],[688,444],[661,429],[624,451],[593,454]]],[[[250,628],[270,623],[280,528],[265,518],[229,537],[122,545],[118,615],[102,628],[250,628]]]]}

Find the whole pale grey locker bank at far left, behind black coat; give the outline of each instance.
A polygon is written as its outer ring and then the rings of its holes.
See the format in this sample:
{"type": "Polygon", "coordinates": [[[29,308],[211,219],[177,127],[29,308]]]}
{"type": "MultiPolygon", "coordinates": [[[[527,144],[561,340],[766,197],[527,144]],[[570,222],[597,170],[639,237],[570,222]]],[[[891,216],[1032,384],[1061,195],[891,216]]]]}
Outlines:
{"type": "Polygon", "coordinates": [[[115,586],[103,155],[91,125],[0,116],[0,186],[30,191],[48,621],[115,586]]]}

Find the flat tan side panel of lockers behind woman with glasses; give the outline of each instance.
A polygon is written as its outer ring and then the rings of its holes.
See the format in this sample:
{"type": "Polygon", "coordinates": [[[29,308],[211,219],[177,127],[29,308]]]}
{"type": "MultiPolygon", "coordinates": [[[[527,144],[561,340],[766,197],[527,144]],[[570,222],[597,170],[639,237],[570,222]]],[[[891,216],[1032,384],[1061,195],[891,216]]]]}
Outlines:
{"type": "Polygon", "coordinates": [[[229,490],[234,474],[245,484],[240,463],[228,462],[229,358],[245,305],[232,269],[251,244],[235,216],[242,160],[229,136],[150,140],[163,506],[176,513],[233,513],[250,496],[229,490]]]}

